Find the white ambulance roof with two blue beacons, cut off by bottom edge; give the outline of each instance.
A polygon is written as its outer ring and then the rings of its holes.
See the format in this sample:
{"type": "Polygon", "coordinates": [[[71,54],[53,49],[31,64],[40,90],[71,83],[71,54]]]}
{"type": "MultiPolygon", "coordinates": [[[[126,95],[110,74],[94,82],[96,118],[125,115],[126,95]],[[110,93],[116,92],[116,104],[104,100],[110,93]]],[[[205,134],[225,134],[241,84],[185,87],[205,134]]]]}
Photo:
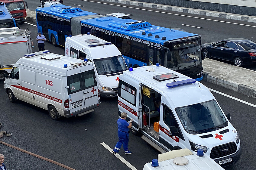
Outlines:
{"type": "Polygon", "coordinates": [[[202,152],[191,152],[189,149],[172,150],[161,153],[157,159],[144,165],[143,170],[224,170],[209,156],[202,152]]]}

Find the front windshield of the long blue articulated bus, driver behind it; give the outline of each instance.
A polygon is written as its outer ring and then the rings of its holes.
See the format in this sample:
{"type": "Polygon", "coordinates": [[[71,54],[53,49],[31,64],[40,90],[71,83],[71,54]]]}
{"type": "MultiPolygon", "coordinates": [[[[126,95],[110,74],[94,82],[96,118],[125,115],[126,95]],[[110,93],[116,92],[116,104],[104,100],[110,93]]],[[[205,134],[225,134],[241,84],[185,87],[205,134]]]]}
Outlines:
{"type": "Polygon", "coordinates": [[[166,61],[167,68],[180,70],[202,64],[199,39],[170,44],[172,60],[166,61]]]}

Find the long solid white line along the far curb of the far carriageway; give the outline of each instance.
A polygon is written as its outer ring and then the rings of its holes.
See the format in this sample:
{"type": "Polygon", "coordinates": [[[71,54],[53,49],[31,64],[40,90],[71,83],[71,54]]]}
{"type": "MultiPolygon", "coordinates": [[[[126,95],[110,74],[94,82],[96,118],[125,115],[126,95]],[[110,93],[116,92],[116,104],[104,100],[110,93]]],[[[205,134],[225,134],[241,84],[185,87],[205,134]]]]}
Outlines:
{"type": "MultiPolygon", "coordinates": [[[[81,0],[81,1],[95,2],[95,1],[88,1],[88,0],[81,0]]],[[[144,10],[144,11],[159,12],[159,13],[163,13],[163,14],[171,14],[171,13],[168,13],[168,12],[153,11],[153,10],[148,10],[148,9],[134,8],[134,7],[126,7],[126,6],[122,6],[122,5],[107,4],[107,3],[103,3],[103,2],[95,2],[95,3],[106,4],[106,5],[114,5],[114,6],[132,8],[132,9],[140,9],[140,10],[144,10]]],[[[183,16],[183,17],[198,18],[198,19],[202,19],[202,20],[210,20],[210,21],[216,21],[216,22],[222,22],[222,23],[231,23],[231,24],[236,24],[236,25],[256,27],[256,26],[253,26],[253,25],[245,25],[245,24],[241,24],[241,23],[232,23],[232,22],[227,22],[227,21],[212,20],[212,19],[207,19],[207,18],[192,17],[192,16],[180,15],[180,14],[171,14],[171,15],[178,15],[178,16],[183,16]]]]}

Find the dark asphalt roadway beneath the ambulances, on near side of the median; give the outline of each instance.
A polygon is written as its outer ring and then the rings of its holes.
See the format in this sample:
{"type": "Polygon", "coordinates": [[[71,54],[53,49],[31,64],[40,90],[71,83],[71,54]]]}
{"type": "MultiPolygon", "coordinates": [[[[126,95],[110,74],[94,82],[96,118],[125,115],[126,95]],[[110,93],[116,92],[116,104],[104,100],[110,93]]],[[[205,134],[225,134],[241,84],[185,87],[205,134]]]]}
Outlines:
{"type": "MultiPolygon", "coordinates": [[[[32,31],[31,37],[36,37],[37,28],[28,24],[21,25],[32,31]]],[[[35,39],[35,38],[34,38],[35,39]]],[[[34,41],[35,42],[35,41],[34,41]]],[[[37,51],[35,42],[34,52],[37,51]]],[[[63,54],[64,49],[54,47],[46,42],[50,52],[63,54]]],[[[241,100],[256,104],[256,100],[240,93],[203,82],[207,87],[237,97],[241,100]]],[[[239,133],[242,154],[240,160],[226,170],[255,169],[255,121],[256,108],[213,93],[225,113],[231,113],[231,123],[239,133]]],[[[84,117],[61,118],[59,121],[50,119],[47,110],[35,107],[22,101],[11,103],[4,91],[4,83],[0,82],[0,122],[1,131],[12,133],[11,137],[3,137],[2,141],[60,162],[76,170],[84,169],[127,169],[123,162],[117,159],[100,143],[105,142],[114,147],[117,137],[118,102],[117,98],[101,99],[101,106],[93,113],[84,117]]],[[[159,152],[147,144],[140,136],[130,134],[129,149],[131,155],[119,154],[135,168],[142,169],[144,164],[157,158],[159,152]]],[[[0,152],[5,155],[8,169],[28,170],[63,170],[42,159],[14,150],[0,144],[0,152]]]]}

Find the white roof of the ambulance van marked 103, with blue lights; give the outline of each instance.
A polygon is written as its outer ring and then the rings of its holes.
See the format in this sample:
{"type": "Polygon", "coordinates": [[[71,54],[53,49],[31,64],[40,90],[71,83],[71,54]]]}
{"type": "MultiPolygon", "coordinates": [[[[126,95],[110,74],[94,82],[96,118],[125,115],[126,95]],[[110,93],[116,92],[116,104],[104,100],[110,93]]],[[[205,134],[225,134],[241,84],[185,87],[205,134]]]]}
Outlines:
{"type": "Polygon", "coordinates": [[[25,57],[20,58],[15,64],[28,66],[60,76],[66,76],[67,70],[74,69],[74,65],[79,67],[79,63],[81,63],[81,66],[92,64],[91,62],[83,62],[83,60],[80,59],[49,53],[45,50],[26,54],[25,57]],[[66,64],[67,67],[64,67],[64,64],[66,64]]]}

